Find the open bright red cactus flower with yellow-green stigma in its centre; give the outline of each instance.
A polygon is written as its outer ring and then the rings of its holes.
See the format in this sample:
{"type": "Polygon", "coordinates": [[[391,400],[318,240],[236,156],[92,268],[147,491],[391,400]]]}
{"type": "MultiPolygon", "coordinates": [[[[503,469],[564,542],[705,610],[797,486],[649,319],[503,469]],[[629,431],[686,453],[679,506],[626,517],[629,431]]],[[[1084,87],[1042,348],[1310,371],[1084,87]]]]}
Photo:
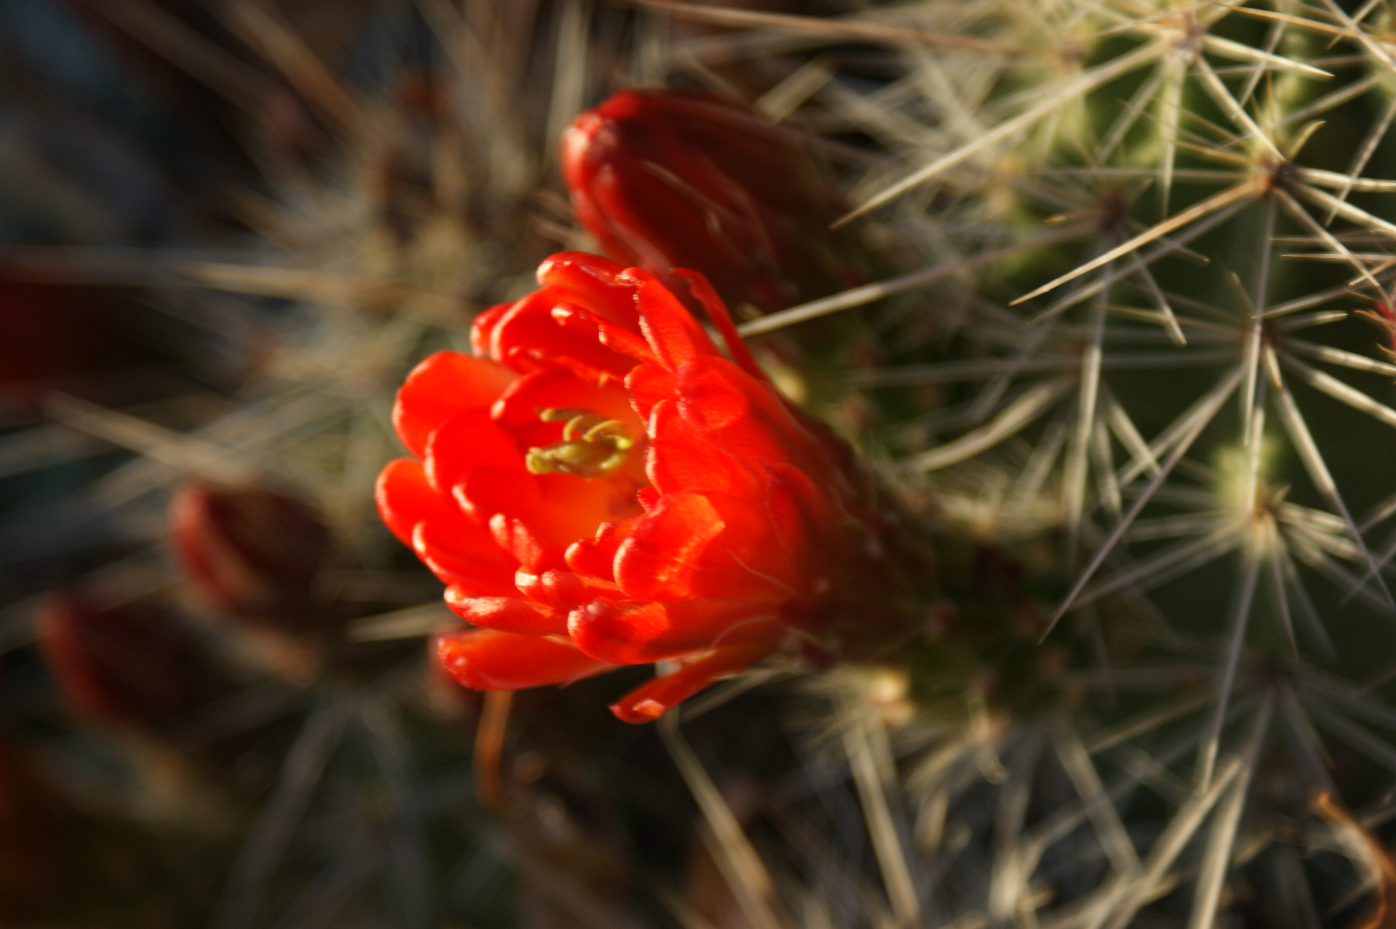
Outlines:
{"type": "Polygon", "coordinates": [[[443,636],[476,689],[623,664],[678,670],[611,707],[646,721],[780,649],[886,644],[914,590],[847,449],[765,379],[708,282],[729,360],[638,268],[564,252],[398,392],[416,458],[384,522],[476,630],[443,636]]]}

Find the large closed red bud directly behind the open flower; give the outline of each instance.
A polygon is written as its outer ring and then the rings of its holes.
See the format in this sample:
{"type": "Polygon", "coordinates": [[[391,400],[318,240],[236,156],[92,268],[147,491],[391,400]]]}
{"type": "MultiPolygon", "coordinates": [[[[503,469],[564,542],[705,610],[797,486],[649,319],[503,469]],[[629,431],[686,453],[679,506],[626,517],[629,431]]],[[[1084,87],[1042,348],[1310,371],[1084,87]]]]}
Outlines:
{"type": "Polygon", "coordinates": [[[692,268],[764,312],[859,285],[838,192],[790,135],[715,96],[628,89],[563,134],[577,218],[611,258],[692,268]]]}

